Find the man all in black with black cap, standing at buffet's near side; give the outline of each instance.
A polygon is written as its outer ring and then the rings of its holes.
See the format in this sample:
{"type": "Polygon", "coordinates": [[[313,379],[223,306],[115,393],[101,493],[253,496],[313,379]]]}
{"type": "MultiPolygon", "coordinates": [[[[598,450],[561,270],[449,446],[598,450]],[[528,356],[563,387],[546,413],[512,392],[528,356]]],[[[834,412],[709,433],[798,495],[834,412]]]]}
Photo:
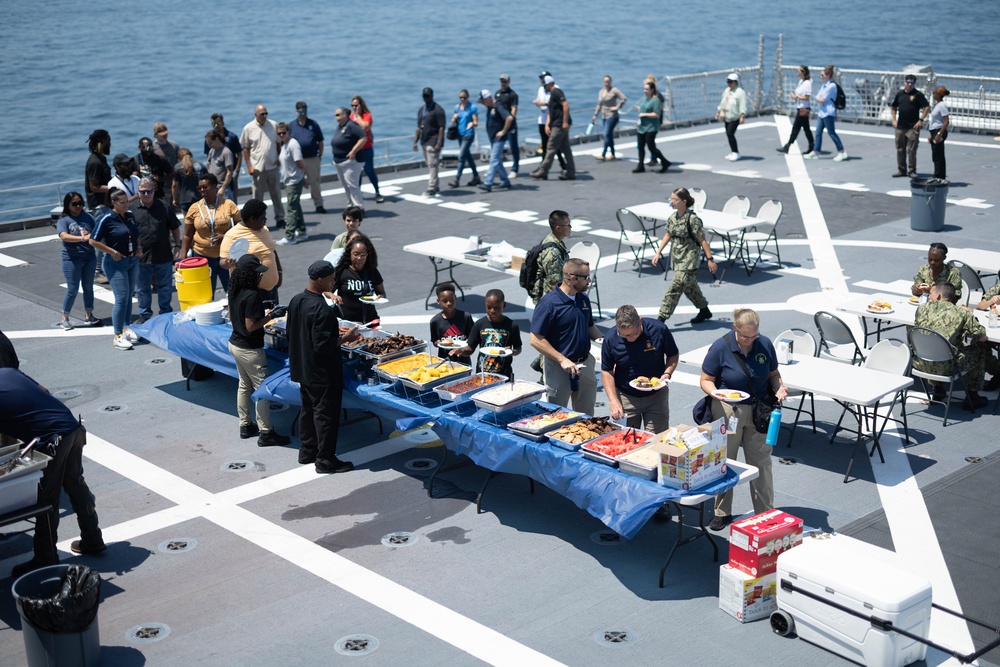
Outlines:
{"type": "Polygon", "coordinates": [[[315,463],[320,474],[354,469],[350,461],[337,458],[337,432],[344,388],[340,346],[355,340],[358,328],[340,335],[337,316],[323,298],[333,281],[333,264],[313,262],[305,291],[288,304],[288,366],[302,398],[299,463],[315,463]]]}

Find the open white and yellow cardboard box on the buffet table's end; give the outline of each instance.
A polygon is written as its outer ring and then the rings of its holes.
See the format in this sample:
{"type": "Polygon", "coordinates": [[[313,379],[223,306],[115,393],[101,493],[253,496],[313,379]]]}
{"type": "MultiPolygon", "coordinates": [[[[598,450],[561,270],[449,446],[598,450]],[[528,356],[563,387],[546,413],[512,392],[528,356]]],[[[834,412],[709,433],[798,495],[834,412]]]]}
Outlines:
{"type": "Polygon", "coordinates": [[[726,474],[726,424],[718,419],[701,426],[680,424],[659,433],[649,448],[660,455],[657,481],[691,491],[726,474]]]}

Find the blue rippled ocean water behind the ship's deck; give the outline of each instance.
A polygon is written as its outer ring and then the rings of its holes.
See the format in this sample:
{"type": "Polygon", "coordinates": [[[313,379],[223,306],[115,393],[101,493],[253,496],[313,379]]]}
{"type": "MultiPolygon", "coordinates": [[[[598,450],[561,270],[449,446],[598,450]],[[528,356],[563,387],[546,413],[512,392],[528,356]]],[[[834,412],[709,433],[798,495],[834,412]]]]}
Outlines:
{"type": "MultiPolygon", "coordinates": [[[[162,121],[172,140],[200,157],[213,112],[239,134],[257,103],[272,119],[290,120],[296,100],[305,100],[310,116],[332,129],[334,108],[360,94],[376,138],[412,136],[424,86],[450,109],[460,88],[475,99],[481,88],[495,90],[501,73],[521,96],[522,133],[534,135],[530,100],[542,69],[566,91],[580,123],[605,74],[635,100],[647,74],[755,65],[759,35],[768,69],[781,33],[785,64],[920,63],[996,76],[995,1],[940,6],[11,0],[0,25],[0,90],[8,121],[25,125],[0,135],[0,189],[74,179],[82,189],[95,128],[111,133],[112,155],[134,155],[139,138],[162,121]],[[943,20],[931,20],[932,11],[943,20]]],[[[42,194],[33,197],[37,203],[42,194]]],[[[44,197],[49,203],[54,193],[44,197]]],[[[0,195],[0,209],[24,199],[0,195]]]]}

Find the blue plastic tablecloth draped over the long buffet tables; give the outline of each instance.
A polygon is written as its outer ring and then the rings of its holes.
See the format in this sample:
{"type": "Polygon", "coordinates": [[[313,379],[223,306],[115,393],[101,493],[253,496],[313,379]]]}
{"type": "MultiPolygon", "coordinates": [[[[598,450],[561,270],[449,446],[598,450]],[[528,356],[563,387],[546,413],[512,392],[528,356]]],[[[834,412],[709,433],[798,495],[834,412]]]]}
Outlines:
{"type": "MultiPolygon", "coordinates": [[[[203,327],[191,321],[175,324],[173,315],[158,315],[132,327],[157,347],[185,359],[237,377],[236,362],[229,354],[228,325],[203,327]]],[[[268,357],[281,364],[254,392],[285,405],[301,405],[298,384],[288,376],[287,355],[268,349],[268,357]]],[[[534,442],[506,428],[483,421],[492,413],[466,403],[445,403],[431,393],[420,393],[395,385],[368,385],[354,378],[354,363],[344,371],[344,407],[388,412],[396,427],[408,430],[428,422],[448,449],[468,456],[476,465],[496,472],[526,475],[565,496],[577,507],[600,519],[626,538],[633,537],[669,500],[692,494],[715,495],[736,486],[739,477],[729,470],[716,482],[685,492],[656,482],[626,475],[615,468],[585,459],[548,442],[534,442]]]]}

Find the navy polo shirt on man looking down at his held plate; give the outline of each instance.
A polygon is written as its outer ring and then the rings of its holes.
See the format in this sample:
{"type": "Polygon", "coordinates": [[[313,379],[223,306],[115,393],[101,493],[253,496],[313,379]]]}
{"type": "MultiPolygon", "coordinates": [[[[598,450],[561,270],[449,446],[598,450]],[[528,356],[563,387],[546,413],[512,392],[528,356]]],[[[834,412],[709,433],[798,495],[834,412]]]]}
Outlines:
{"type": "Polygon", "coordinates": [[[642,318],[642,333],[628,342],[612,327],[604,336],[601,346],[601,370],[615,376],[615,387],[629,396],[643,396],[648,392],[629,386],[640,375],[660,377],[667,368],[667,359],[679,354],[673,334],[667,325],[652,318],[642,318]]]}

